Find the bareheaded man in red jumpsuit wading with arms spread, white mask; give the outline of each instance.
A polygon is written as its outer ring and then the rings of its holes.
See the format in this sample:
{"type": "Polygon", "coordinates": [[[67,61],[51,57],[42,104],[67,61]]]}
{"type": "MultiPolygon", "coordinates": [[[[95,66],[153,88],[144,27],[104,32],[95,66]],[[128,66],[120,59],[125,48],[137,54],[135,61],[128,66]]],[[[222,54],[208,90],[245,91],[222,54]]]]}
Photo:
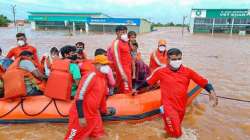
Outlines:
{"type": "Polygon", "coordinates": [[[168,65],[156,68],[137,90],[160,81],[165,130],[171,137],[178,138],[182,135],[181,123],[186,110],[187,90],[190,80],[210,93],[209,99],[213,101],[214,106],[218,104],[218,99],[208,80],[182,65],[182,52],[179,49],[172,48],[168,50],[167,55],[168,65]]]}

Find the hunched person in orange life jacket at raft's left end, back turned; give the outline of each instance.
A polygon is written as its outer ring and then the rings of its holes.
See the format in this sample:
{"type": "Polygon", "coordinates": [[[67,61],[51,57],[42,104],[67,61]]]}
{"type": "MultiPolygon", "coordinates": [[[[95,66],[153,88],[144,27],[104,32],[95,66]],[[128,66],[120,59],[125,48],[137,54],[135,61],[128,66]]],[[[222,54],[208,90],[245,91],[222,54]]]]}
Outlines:
{"type": "Polygon", "coordinates": [[[47,77],[39,70],[38,64],[34,61],[32,52],[22,51],[3,75],[5,96],[42,94],[46,79],[47,77]],[[26,89],[25,91],[23,91],[23,87],[26,89]],[[18,93],[11,93],[11,91],[18,91],[18,93]]]}

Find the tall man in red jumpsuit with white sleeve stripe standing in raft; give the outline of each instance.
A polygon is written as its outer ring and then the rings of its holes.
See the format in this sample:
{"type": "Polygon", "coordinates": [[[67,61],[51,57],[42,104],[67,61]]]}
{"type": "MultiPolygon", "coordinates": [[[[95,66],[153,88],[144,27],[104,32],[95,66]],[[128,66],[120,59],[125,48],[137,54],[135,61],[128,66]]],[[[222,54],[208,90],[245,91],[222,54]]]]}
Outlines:
{"type": "Polygon", "coordinates": [[[111,48],[113,68],[116,74],[118,93],[132,92],[132,57],[128,43],[127,27],[116,27],[117,38],[111,48]]]}

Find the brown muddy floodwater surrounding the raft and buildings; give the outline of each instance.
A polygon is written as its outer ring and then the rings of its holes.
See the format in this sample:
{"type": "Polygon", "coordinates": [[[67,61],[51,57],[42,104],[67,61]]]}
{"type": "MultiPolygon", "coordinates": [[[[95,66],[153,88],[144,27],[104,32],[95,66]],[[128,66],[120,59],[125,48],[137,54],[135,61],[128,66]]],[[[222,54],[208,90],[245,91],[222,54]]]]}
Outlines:
{"type": "MultiPolygon", "coordinates": [[[[31,31],[25,28],[30,44],[36,46],[39,55],[52,46],[61,47],[77,41],[86,43],[89,57],[96,48],[107,48],[114,35],[77,34],[67,32],[31,31]]],[[[6,52],[15,46],[15,29],[0,28],[0,45],[6,52]]],[[[178,47],[184,52],[184,63],[206,76],[221,96],[250,100],[250,37],[229,35],[181,36],[180,29],[165,28],[138,36],[140,51],[148,62],[150,52],[157,40],[168,40],[168,47],[178,47]]],[[[188,108],[183,122],[187,140],[247,140],[250,139],[250,104],[219,100],[219,106],[209,106],[208,97],[198,97],[200,106],[188,108]]],[[[107,140],[161,140],[167,139],[161,119],[141,124],[105,124],[107,140]]],[[[67,130],[66,124],[1,125],[0,139],[61,140],[67,130]]],[[[169,139],[169,138],[168,138],[169,139]]]]}

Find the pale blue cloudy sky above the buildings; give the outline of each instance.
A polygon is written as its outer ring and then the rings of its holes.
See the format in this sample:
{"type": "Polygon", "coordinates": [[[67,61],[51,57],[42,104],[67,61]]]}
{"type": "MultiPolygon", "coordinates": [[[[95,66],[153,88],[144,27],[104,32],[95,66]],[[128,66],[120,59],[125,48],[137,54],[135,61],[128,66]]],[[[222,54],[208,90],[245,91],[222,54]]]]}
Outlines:
{"type": "Polygon", "coordinates": [[[102,12],[112,17],[146,18],[153,22],[181,23],[192,8],[250,9],[250,0],[0,0],[0,14],[27,19],[28,11],[102,12]]]}

